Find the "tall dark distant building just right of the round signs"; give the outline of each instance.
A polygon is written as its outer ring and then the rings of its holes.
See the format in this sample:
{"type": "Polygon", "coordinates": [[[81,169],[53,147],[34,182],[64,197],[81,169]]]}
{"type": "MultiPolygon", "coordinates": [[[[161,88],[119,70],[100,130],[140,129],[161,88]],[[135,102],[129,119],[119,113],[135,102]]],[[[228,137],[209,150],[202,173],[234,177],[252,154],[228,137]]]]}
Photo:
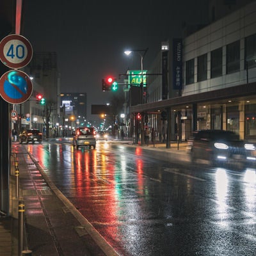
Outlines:
{"type": "Polygon", "coordinates": [[[55,136],[60,122],[60,73],[56,52],[34,52],[29,65],[24,67],[24,72],[32,79],[33,93],[17,109],[21,120],[13,125],[18,131],[36,128],[43,131],[46,137],[55,136]],[[44,97],[44,106],[36,101],[38,94],[44,97]]]}

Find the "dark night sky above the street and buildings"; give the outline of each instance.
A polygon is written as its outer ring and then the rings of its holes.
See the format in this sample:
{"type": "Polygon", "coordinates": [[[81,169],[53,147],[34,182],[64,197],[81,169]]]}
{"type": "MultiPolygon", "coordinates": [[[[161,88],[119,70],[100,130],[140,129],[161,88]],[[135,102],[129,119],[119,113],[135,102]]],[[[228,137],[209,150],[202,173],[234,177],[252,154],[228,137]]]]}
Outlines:
{"type": "Polygon", "coordinates": [[[161,42],[182,36],[182,22],[205,21],[207,0],[86,1],[24,0],[24,36],[33,51],[57,52],[61,92],[86,92],[91,104],[106,104],[102,78],[140,69],[140,56],[126,49],[146,49],[150,66],[161,42]]]}

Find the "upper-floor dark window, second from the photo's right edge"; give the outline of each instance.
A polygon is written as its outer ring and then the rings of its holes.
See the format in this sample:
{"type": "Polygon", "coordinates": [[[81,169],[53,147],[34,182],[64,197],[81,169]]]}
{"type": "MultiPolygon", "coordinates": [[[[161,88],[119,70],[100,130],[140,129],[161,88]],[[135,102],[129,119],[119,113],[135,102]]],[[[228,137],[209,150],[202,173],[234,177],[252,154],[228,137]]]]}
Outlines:
{"type": "Polygon", "coordinates": [[[240,70],[240,41],[227,45],[227,74],[240,70]]]}

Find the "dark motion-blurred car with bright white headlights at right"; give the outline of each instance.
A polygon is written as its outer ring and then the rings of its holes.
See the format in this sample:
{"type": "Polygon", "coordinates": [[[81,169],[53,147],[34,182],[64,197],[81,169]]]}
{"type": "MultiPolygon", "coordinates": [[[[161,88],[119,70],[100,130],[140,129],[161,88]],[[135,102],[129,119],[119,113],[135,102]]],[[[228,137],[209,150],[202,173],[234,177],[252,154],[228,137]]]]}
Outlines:
{"type": "MultiPolygon", "coordinates": [[[[188,141],[191,161],[204,159],[211,164],[249,163],[255,161],[255,147],[239,140],[239,134],[232,131],[200,130],[193,132],[188,141]]],[[[256,156],[256,155],[255,155],[256,156]]]]}

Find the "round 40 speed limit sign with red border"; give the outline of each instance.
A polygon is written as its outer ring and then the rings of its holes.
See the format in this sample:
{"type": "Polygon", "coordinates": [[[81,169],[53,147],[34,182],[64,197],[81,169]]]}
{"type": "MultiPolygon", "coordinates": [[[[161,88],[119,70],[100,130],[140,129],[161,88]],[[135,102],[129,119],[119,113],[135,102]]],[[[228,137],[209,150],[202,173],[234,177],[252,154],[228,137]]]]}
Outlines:
{"type": "Polygon", "coordinates": [[[32,46],[24,36],[8,35],[0,42],[0,59],[7,67],[25,67],[31,61],[32,54],[32,46]]]}

